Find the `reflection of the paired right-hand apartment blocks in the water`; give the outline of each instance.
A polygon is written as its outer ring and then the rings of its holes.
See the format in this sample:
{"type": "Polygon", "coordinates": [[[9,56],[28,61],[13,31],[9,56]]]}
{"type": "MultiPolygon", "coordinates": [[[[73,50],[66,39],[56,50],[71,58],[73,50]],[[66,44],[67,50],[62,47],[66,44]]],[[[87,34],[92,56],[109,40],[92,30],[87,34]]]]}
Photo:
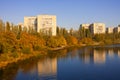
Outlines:
{"type": "Polygon", "coordinates": [[[103,64],[106,60],[106,51],[104,49],[85,48],[80,53],[80,58],[84,63],[103,64]]]}

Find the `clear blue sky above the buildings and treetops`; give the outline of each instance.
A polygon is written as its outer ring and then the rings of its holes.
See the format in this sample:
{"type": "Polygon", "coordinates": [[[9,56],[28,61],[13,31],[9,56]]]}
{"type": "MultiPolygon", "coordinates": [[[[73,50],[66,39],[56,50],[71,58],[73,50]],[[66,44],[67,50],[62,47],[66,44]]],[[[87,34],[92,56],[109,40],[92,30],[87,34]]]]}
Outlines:
{"type": "Polygon", "coordinates": [[[120,0],[0,0],[0,19],[18,24],[24,16],[57,16],[57,26],[78,29],[80,24],[120,24],[120,0]]]}

